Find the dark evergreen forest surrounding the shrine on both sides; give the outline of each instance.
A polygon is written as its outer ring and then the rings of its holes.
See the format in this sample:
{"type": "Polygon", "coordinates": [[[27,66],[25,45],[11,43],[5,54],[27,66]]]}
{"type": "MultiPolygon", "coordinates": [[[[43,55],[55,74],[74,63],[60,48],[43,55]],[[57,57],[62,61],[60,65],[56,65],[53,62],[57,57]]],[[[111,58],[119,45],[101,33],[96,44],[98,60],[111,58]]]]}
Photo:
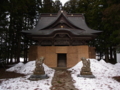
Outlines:
{"type": "Polygon", "coordinates": [[[120,0],[69,0],[64,5],[59,0],[0,0],[0,61],[9,64],[20,62],[34,41],[21,31],[33,29],[40,13],[83,13],[87,25],[102,33],[89,42],[96,47],[100,59],[116,63],[116,52],[120,51],[120,0]]]}

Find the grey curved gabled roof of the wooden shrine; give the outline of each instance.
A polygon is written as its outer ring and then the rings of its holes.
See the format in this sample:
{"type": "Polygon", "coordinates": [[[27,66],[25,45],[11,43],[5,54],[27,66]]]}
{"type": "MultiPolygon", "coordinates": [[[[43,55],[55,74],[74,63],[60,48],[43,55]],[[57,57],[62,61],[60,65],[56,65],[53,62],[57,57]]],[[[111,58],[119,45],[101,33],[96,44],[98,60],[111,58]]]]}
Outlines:
{"type": "Polygon", "coordinates": [[[50,35],[56,31],[67,31],[73,35],[93,35],[101,32],[90,29],[83,14],[67,14],[63,10],[58,14],[41,14],[34,29],[22,32],[30,35],[50,35]]]}

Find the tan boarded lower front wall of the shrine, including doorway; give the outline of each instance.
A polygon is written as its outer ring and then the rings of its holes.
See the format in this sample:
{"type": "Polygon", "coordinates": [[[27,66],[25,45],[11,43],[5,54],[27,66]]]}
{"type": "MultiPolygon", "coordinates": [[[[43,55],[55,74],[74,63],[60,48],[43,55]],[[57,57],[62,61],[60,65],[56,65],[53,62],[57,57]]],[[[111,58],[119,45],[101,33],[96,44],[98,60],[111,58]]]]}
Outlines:
{"type": "Polygon", "coordinates": [[[29,60],[45,57],[45,64],[49,67],[72,67],[81,57],[95,58],[95,48],[88,45],[81,46],[31,46],[29,60]]]}

